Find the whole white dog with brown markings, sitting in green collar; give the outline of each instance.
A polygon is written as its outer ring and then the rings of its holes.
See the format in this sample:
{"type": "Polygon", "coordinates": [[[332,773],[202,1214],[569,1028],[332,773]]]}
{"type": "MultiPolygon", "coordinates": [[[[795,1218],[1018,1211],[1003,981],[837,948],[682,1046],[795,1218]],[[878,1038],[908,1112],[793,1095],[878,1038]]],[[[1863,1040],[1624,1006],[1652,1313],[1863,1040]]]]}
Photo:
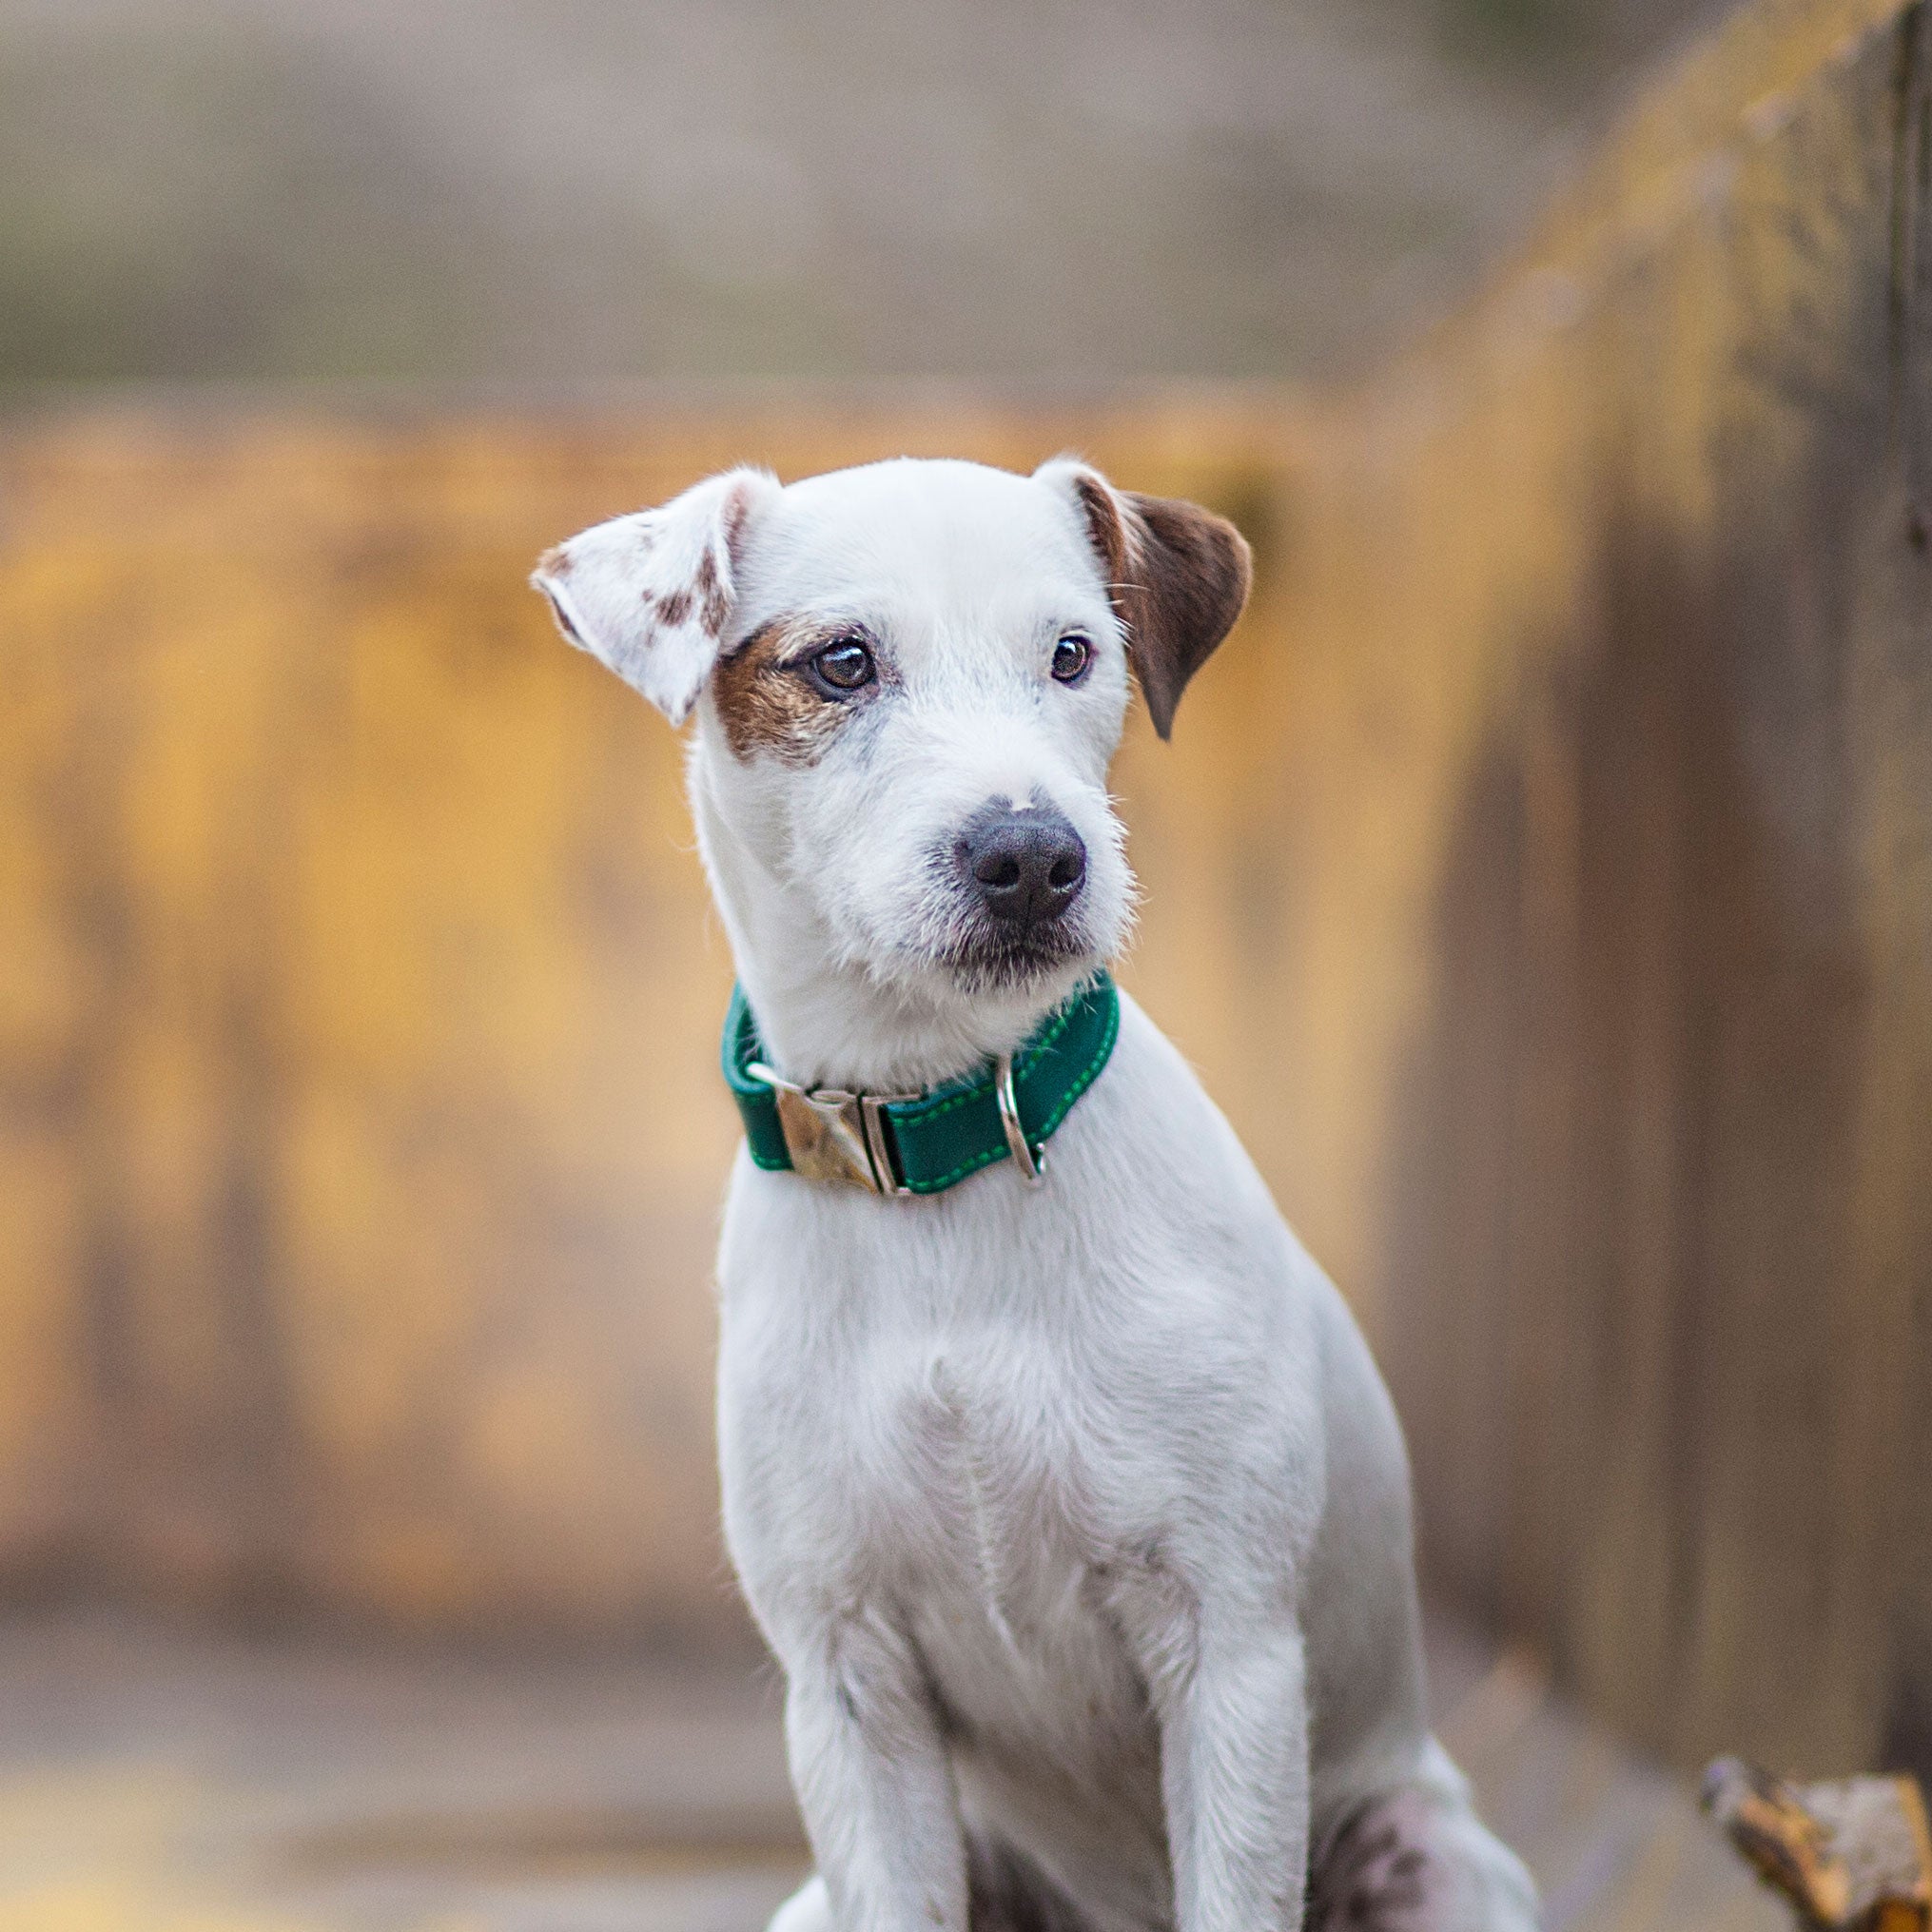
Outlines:
{"type": "Polygon", "coordinates": [[[771,1932],[1528,1932],[1428,1727],[1368,1347],[1105,972],[1109,759],[1240,614],[1238,531],[1070,458],[732,469],[533,583],[696,715],[724,1532],[815,1857],[771,1932]]]}

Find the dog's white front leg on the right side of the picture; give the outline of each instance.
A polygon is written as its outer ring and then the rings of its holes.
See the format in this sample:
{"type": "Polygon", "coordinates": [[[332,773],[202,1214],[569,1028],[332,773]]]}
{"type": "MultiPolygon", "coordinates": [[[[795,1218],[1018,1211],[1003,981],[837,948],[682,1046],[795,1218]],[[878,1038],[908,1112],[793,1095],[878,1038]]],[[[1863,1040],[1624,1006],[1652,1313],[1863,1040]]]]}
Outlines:
{"type": "Polygon", "coordinates": [[[1300,1631],[1202,1613],[1188,1638],[1167,1683],[1155,1683],[1179,1932],[1300,1932],[1308,1884],[1300,1631]]]}

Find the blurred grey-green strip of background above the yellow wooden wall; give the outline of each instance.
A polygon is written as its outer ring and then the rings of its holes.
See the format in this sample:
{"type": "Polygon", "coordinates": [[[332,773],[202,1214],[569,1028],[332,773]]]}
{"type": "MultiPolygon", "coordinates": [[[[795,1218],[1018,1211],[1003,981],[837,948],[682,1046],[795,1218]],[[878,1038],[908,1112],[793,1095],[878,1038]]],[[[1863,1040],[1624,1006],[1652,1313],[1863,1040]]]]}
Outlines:
{"type": "Polygon", "coordinates": [[[0,0],[0,392],[1358,367],[1727,0],[0,0]]]}

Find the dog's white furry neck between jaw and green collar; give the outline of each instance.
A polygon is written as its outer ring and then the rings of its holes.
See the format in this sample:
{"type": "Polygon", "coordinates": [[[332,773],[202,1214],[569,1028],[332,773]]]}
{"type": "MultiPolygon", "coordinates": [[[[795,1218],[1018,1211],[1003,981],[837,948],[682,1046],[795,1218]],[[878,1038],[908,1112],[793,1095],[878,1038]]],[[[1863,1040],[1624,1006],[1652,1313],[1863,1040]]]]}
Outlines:
{"type": "Polygon", "coordinates": [[[1082,976],[1068,968],[1037,987],[976,997],[881,985],[840,958],[810,895],[732,831],[701,779],[692,813],[738,983],[777,1072],[800,1086],[922,1094],[1016,1051],[1082,976]]]}

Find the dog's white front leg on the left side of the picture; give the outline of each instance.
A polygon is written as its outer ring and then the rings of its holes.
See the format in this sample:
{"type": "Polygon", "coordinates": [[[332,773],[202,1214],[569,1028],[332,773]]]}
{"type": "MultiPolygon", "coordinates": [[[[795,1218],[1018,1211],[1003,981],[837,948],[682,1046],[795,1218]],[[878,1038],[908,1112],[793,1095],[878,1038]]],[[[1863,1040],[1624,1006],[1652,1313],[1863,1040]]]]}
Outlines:
{"type": "Polygon", "coordinates": [[[875,1615],[788,1662],[792,1785],[837,1932],[966,1932],[966,1843],[918,1654],[875,1615]]]}

